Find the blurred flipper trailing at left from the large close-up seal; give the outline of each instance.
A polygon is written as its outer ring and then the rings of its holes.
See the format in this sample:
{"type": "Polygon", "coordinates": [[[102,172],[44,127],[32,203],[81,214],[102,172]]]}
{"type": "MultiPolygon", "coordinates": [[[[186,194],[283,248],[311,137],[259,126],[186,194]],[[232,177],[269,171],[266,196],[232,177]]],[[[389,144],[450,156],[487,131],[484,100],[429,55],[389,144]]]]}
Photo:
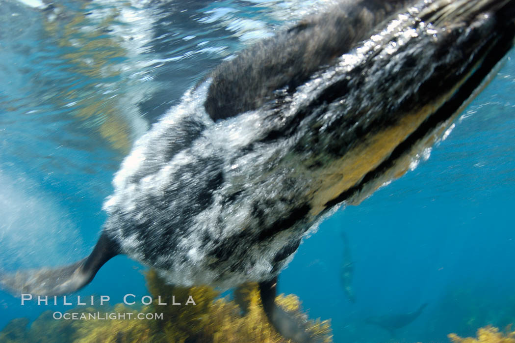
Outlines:
{"type": "Polygon", "coordinates": [[[93,252],[79,262],[60,268],[0,273],[0,286],[17,296],[21,293],[44,296],[70,293],[90,283],[98,269],[118,253],[117,244],[102,233],[93,252]]]}

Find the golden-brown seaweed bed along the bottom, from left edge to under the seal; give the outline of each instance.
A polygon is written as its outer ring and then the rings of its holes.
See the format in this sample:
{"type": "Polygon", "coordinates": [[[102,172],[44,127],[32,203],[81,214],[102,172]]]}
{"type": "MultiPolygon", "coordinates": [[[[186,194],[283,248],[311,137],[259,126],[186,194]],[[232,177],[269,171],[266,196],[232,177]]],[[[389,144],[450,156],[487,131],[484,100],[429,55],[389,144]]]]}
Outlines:
{"type": "MultiPolygon", "coordinates": [[[[0,341],[18,342],[158,342],[158,343],[229,343],[262,342],[286,343],[289,340],[279,335],[269,324],[263,312],[258,285],[248,283],[240,287],[235,300],[219,298],[219,292],[205,287],[175,287],[165,284],[155,270],[146,275],[152,303],[134,308],[125,304],[114,307],[81,307],[70,313],[132,313],[131,320],[55,320],[52,311],[45,311],[32,324],[27,318],[11,320],[0,332],[0,341]],[[159,304],[159,296],[162,302],[159,304]],[[172,305],[171,296],[176,303],[172,305]],[[195,305],[186,301],[191,296],[195,305]],[[243,311],[242,311],[243,308],[243,311]],[[163,314],[162,319],[134,320],[138,313],[163,314]]],[[[307,320],[301,311],[300,301],[294,295],[276,298],[276,302],[305,323],[310,334],[320,342],[332,342],[329,320],[307,320]]]]}

